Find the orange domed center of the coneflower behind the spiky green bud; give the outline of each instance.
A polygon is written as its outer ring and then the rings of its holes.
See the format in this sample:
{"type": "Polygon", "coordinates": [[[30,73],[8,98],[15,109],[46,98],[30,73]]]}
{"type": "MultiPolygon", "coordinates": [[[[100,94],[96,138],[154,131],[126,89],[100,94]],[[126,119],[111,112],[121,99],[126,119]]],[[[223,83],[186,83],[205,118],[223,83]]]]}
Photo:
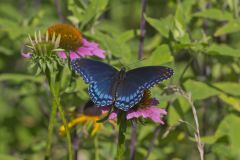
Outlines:
{"type": "Polygon", "coordinates": [[[60,47],[67,51],[75,51],[82,45],[82,33],[70,24],[55,24],[48,28],[49,37],[61,35],[60,47]]]}

